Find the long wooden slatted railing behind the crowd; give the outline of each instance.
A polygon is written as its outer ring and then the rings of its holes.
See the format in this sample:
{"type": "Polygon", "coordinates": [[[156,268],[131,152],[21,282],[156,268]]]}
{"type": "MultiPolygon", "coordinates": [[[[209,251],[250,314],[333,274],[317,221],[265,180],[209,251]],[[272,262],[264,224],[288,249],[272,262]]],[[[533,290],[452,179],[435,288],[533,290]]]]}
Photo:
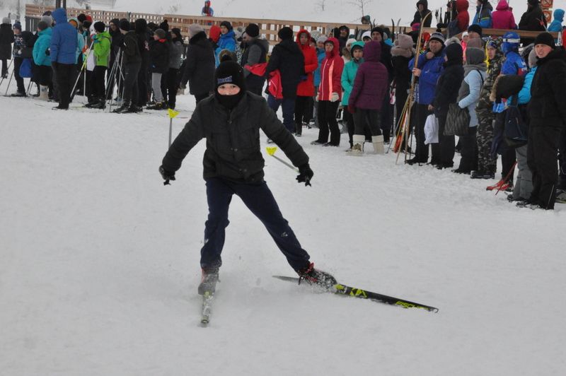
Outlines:
{"type": "MultiPolygon", "coordinates": [[[[34,4],[25,4],[25,16],[40,17],[45,11],[53,11],[52,6],[40,6],[34,4]]],[[[198,23],[202,25],[204,30],[208,31],[212,25],[220,25],[223,20],[228,20],[234,28],[239,26],[245,28],[250,23],[257,23],[260,27],[260,35],[265,37],[272,45],[277,43],[277,32],[284,26],[289,26],[295,32],[306,29],[308,31],[318,30],[323,35],[328,35],[330,31],[340,25],[347,25],[352,30],[360,28],[361,24],[354,23],[320,23],[314,21],[294,21],[294,20],[267,20],[258,18],[231,18],[231,17],[202,17],[202,16],[184,16],[178,14],[151,14],[137,12],[116,12],[116,11],[99,11],[93,9],[67,8],[67,16],[69,18],[76,17],[80,13],[88,14],[93,20],[101,20],[109,23],[112,18],[126,18],[133,21],[137,18],[145,18],[148,23],[153,22],[159,24],[163,20],[167,20],[170,28],[180,28],[183,35],[188,34],[189,25],[198,23]]]]}

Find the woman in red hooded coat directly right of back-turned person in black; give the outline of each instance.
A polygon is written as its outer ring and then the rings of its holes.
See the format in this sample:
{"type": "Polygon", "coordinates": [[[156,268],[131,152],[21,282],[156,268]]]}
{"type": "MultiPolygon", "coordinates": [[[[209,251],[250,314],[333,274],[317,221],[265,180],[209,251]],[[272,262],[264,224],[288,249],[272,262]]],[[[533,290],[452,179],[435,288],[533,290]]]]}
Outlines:
{"type": "MultiPolygon", "coordinates": [[[[314,95],[313,72],[318,68],[318,57],[316,49],[311,47],[311,33],[307,30],[299,30],[296,35],[296,43],[305,57],[305,74],[301,76],[301,82],[296,88],[295,100],[295,135],[301,136],[303,133],[303,115],[308,109],[308,102],[314,95]]],[[[308,119],[311,117],[309,116],[308,119]]]]}

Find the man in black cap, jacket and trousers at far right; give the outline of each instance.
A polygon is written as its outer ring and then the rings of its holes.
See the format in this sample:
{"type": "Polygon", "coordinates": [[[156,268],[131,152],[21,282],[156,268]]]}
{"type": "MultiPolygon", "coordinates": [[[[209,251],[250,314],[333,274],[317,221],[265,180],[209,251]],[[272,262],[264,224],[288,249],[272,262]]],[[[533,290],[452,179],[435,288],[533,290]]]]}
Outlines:
{"type": "Polygon", "coordinates": [[[553,209],[558,187],[558,146],[566,129],[566,52],[555,47],[550,33],[535,39],[538,58],[529,102],[527,163],[533,172],[533,192],[527,204],[553,209]]]}

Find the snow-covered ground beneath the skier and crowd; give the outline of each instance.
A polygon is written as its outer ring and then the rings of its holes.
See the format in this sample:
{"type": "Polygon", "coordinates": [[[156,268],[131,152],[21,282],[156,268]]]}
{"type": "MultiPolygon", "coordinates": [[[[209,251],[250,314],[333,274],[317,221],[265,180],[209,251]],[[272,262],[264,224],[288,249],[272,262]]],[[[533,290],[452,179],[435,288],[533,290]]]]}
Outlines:
{"type": "Polygon", "coordinates": [[[491,181],[305,130],[313,187],[267,154],[265,170],[313,261],[439,313],[275,280],[293,273],[235,198],[203,329],[204,142],[163,187],[165,112],[50,106],[0,98],[1,375],[563,375],[564,205],[519,209],[491,181]]]}

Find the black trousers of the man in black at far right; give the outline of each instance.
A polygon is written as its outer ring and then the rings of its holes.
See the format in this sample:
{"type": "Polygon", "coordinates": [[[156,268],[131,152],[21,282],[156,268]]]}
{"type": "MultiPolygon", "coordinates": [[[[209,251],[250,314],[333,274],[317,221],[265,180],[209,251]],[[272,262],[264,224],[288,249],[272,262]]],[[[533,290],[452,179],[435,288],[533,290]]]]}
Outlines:
{"type": "Polygon", "coordinates": [[[553,209],[556,199],[559,142],[560,128],[529,128],[527,164],[533,172],[533,192],[530,199],[546,209],[553,209]]]}

